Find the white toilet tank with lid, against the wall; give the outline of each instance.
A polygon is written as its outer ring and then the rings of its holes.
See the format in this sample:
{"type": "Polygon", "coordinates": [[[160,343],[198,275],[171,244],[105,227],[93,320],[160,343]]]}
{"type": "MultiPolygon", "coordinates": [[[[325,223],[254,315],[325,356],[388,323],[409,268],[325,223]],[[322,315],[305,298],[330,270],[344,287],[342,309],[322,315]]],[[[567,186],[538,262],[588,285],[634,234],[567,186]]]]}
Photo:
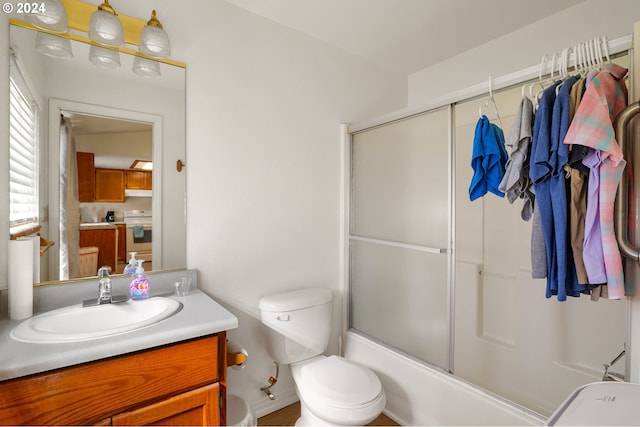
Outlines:
{"type": "Polygon", "coordinates": [[[267,352],[279,364],[322,354],[329,344],[333,293],[306,288],[265,296],[259,303],[267,352]]]}

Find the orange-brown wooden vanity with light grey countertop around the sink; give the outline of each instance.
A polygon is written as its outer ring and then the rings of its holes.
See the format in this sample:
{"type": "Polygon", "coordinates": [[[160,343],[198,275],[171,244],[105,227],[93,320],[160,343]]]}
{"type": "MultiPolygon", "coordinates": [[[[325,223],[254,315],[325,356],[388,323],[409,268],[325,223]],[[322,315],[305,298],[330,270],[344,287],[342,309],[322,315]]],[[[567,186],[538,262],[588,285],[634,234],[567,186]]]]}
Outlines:
{"type": "MultiPolygon", "coordinates": [[[[11,333],[21,321],[0,320],[0,425],[224,425],[226,331],[237,318],[198,289],[172,296],[183,276],[196,279],[194,271],[149,276],[179,311],[114,336],[25,342],[11,333]]],[[[113,279],[114,294],[127,279],[113,279]]],[[[81,301],[95,297],[91,284],[46,286],[37,299],[71,292],[81,301]]]]}

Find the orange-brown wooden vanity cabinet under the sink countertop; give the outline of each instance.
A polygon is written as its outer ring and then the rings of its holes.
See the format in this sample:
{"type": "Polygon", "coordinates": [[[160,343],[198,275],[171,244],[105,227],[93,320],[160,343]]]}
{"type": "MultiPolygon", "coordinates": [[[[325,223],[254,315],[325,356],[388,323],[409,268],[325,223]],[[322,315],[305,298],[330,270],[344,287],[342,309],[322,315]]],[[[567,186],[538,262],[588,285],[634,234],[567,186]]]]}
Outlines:
{"type": "Polygon", "coordinates": [[[225,425],[226,333],[0,382],[0,425],[225,425]]]}

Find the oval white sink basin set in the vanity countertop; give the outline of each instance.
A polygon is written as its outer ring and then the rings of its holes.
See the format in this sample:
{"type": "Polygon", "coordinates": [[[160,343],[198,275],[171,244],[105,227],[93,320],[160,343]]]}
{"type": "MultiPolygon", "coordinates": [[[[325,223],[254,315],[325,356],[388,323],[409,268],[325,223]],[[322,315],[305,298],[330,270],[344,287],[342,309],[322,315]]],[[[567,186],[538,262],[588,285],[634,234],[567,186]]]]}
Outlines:
{"type": "Polygon", "coordinates": [[[179,301],[165,297],[91,307],[72,305],[23,321],[13,328],[11,338],[31,343],[97,339],[156,324],[181,309],[179,301]]]}

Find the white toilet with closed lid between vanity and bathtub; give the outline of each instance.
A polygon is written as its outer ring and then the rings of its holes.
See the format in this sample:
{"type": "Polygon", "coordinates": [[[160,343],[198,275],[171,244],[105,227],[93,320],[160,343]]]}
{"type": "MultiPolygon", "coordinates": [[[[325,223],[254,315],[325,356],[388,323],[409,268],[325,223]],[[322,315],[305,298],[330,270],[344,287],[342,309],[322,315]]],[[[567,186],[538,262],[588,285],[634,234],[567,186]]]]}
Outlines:
{"type": "Polygon", "coordinates": [[[296,425],[364,425],[384,409],[387,399],[368,368],[339,356],[323,355],[329,343],[333,293],[309,288],[260,300],[267,326],[267,352],[291,365],[300,398],[296,425]]]}

